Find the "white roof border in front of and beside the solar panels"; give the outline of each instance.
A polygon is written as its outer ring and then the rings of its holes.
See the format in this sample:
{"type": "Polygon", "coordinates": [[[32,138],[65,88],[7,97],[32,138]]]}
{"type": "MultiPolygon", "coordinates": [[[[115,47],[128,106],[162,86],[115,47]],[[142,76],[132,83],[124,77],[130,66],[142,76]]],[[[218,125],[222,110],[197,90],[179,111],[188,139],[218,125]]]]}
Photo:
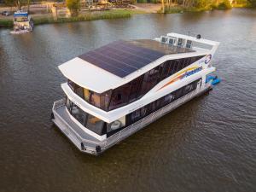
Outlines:
{"type": "Polygon", "coordinates": [[[74,83],[86,89],[95,91],[96,93],[102,93],[107,90],[115,89],[123,84],[136,79],[143,73],[147,73],[154,67],[160,65],[167,60],[186,58],[193,55],[208,55],[209,50],[196,51],[182,54],[164,55],[159,59],[149,63],[148,65],[138,69],[134,73],[131,73],[125,78],[120,78],[112,73],[108,73],[100,67],[96,67],[90,62],[84,61],[79,57],[75,57],[70,61],[67,61],[58,68],[61,73],[67,78],[72,80],[74,83]],[[100,78],[99,78],[100,77],[100,78]]]}

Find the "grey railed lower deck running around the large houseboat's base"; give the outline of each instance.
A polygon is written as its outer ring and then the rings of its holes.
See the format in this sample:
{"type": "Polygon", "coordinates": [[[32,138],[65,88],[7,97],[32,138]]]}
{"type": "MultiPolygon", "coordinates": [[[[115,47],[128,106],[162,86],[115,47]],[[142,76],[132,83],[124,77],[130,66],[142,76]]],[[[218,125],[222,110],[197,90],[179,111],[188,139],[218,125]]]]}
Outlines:
{"type": "Polygon", "coordinates": [[[126,126],[122,130],[103,140],[98,140],[96,137],[92,137],[90,133],[84,131],[81,126],[73,121],[72,117],[67,111],[64,99],[54,103],[53,122],[75,144],[75,146],[79,148],[80,151],[88,154],[100,154],[114,144],[119,143],[126,137],[129,137],[133,133],[141,130],[146,125],[154,122],[156,119],[160,119],[160,117],[181,106],[184,102],[188,102],[195,96],[199,96],[211,88],[211,84],[205,84],[205,86],[201,87],[200,89],[193,90],[187,95],[180,97],[174,102],[171,102],[153,113],[149,113],[147,116],[143,117],[143,119],[137,120],[137,122],[126,126]]]}

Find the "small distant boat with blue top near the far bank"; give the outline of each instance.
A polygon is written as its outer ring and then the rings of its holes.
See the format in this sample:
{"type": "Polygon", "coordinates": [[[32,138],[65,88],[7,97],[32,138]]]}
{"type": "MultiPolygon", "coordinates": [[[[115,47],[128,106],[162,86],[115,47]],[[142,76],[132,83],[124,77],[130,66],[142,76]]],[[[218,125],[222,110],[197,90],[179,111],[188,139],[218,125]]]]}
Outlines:
{"type": "Polygon", "coordinates": [[[32,18],[26,11],[17,11],[14,14],[14,31],[12,34],[23,34],[32,32],[33,22],[32,18]]]}

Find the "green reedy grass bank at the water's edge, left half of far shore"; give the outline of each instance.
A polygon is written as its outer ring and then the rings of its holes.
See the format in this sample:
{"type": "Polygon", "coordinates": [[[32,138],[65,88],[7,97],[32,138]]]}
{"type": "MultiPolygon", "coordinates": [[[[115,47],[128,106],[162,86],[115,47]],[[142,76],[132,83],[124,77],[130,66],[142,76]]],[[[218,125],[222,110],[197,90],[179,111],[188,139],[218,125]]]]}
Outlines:
{"type": "MultiPolygon", "coordinates": [[[[132,9],[113,9],[107,11],[94,11],[86,12],[77,17],[71,18],[59,18],[54,20],[52,16],[41,15],[41,16],[32,16],[34,25],[42,25],[49,23],[65,23],[65,22],[74,22],[74,21],[84,21],[84,20],[111,20],[118,18],[129,18],[131,15],[143,14],[142,11],[132,10],[132,9]]],[[[1,27],[11,27],[13,26],[13,20],[11,19],[0,19],[1,27]]]]}

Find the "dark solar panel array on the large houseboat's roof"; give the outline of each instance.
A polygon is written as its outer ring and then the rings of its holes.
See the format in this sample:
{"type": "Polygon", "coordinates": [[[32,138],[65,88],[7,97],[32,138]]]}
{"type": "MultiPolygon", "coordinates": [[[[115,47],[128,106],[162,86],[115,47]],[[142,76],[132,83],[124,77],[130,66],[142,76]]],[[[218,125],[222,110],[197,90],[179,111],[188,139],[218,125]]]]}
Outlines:
{"type": "Polygon", "coordinates": [[[149,39],[119,40],[79,55],[79,58],[124,78],[163,55],[189,51],[189,49],[174,48],[149,39]]]}

